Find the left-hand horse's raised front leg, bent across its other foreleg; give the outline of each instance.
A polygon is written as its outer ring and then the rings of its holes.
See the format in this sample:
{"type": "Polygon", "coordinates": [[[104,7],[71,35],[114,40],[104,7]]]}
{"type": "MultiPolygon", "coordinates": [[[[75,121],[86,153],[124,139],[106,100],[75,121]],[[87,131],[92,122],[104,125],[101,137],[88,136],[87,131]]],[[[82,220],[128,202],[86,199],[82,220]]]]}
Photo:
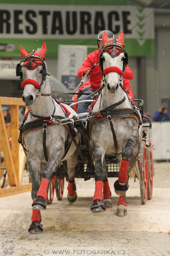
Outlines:
{"type": "Polygon", "coordinates": [[[37,192],[37,198],[32,203],[32,207],[36,210],[44,210],[46,208],[46,198],[47,198],[47,187],[49,180],[52,178],[53,170],[58,166],[62,155],[64,154],[64,140],[58,140],[57,145],[51,146],[52,150],[50,152],[49,160],[42,173],[42,180],[40,187],[37,192]]]}

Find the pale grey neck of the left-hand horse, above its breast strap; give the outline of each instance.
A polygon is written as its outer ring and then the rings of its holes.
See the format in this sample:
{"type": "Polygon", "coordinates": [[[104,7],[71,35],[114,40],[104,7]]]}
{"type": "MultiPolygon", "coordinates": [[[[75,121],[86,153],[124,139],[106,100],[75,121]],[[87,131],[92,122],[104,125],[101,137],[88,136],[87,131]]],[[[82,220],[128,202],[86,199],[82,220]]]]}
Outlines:
{"type": "MultiPolygon", "coordinates": [[[[48,77],[46,78],[46,82],[41,86],[42,93],[51,93],[50,84],[48,77]]],[[[31,106],[32,113],[38,116],[51,116],[54,111],[54,105],[52,103],[51,96],[42,96],[41,98],[36,98],[34,104],[31,106]]]]}

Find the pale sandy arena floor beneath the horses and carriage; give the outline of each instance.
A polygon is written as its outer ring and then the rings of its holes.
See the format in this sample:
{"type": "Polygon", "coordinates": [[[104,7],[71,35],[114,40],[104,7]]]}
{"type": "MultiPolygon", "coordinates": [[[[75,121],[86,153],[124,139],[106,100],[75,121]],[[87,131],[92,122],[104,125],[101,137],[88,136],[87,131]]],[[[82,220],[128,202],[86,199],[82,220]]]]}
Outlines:
{"type": "MultiPolygon", "coordinates": [[[[28,233],[32,214],[31,192],[0,198],[0,255],[5,255],[4,242],[13,241],[13,256],[63,254],[58,249],[70,250],[63,255],[169,256],[170,163],[154,165],[152,200],[142,205],[139,181],[130,180],[125,217],[115,214],[118,196],[113,184],[116,178],[109,179],[113,208],[98,214],[89,210],[94,179],[76,179],[78,199],[72,204],[67,201],[65,181],[63,200],[57,201],[55,196],[52,204],[41,211],[44,228],[41,234],[28,233]]],[[[26,174],[25,179],[28,179],[26,174]]]]}

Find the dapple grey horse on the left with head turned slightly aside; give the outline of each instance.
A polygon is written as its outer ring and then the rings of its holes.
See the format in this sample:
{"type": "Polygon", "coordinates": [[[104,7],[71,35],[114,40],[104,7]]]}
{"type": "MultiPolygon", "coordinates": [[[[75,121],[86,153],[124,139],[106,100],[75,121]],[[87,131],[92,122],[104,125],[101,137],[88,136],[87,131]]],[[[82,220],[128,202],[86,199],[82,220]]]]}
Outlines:
{"type": "MultiPolygon", "coordinates": [[[[67,198],[69,201],[75,201],[77,198],[74,181],[77,149],[71,136],[68,136],[66,126],[58,125],[57,122],[53,123],[54,125],[48,125],[48,123],[52,124],[51,120],[55,116],[57,116],[56,118],[65,118],[65,111],[64,105],[61,106],[52,96],[40,97],[41,94],[51,93],[49,79],[46,73],[45,42],[40,52],[33,50],[32,53],[28,54],[22,46],[20,47],[20,51],[24,58],[24,64],[20,67],[20,75],[23,81],[22,99],[26,107],[31,107],[25,125],[38,119],[46,123],[43,128],[33,129],[24,135],[28,172],[32,181],[31,196],[33,199],[32,223],[29,227],[29,232],[40,233],[43,230],[42,224],[40,224],[40,210],[46,208],[46,189],[48,188],[49,180],[52,178],[53,171],[58,166],[63,156],[64,158],[62,160],[67,160],[67,173],[69,177],[67,198]],[[39,97],[37,97],[37,95],[39,95],[39,97]],[[51,119],[46,118],[51,116],[51,119]],[[46,158],[43,150],[44,129],[46,129],[46,158]],[[71,145],[67,154],[64,155],[64,144],[66,141],[68,145],[70,145],[70,143],[71,145]]],[[[68,113],[69,117],[76,114],[69,106],[67,106],[67,110],[70,111],[70,113],[68,113]]],[[[79,143],[80,134],[77,130],[75,130],[75,132],[74,139],[79,143]]]]}

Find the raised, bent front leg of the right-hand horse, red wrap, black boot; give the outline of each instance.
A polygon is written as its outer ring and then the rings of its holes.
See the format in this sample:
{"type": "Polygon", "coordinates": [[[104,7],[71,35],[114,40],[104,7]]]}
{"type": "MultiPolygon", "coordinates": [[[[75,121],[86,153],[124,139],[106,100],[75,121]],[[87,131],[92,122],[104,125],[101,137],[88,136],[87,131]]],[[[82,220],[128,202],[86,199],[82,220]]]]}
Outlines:
{"type": "Polygon", "coordinates": [[[127,170],[130,162],[130,158],[133,154],[134,148],[136,148],[138,142],[138,136],[133,135],[128,140],[124,148],[122,149],[122,161],[119,170],[118,180],[114,183],[115,193],[117,195],[124,195],[129,188],[127,170]]]}

